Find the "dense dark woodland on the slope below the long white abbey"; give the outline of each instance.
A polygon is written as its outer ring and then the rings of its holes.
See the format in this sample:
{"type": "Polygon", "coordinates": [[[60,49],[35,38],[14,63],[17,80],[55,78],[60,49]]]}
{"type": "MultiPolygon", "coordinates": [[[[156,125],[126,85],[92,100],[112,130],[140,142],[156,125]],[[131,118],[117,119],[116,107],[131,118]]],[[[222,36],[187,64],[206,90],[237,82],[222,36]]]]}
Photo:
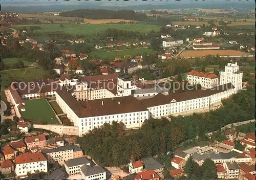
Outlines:
{"type": "Polygon", "coordinates": [[[208,140],[205,133],[221,127],[254,119],[254,89],[248,87],[226,100],[223,107],[203,114],[146,120],[140,129],[124,130],[122,123],[112,122],[95,128],[78,142],[85,153],[102,166],[118,166],[127,164],[131,154],[135,159],[174,152],[175,147],[186,140],[197,136],[208,140]]]}

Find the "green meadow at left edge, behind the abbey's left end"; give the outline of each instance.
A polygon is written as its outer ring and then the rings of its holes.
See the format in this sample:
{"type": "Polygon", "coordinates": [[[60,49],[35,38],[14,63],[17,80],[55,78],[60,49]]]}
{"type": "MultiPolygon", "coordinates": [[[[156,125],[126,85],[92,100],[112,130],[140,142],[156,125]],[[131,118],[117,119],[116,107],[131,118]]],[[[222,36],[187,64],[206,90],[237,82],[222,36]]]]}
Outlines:
{"type": "Polygon", "coordinates": [[[2,87],[9,86],[13,81],[30,81],[34,79],[42,79],[43,74],[45,73],[44,69],[37,66],[35,68],[29,69],[20,69],[12,71],[2,71],[1,74],[1,85],[2,87]]]}

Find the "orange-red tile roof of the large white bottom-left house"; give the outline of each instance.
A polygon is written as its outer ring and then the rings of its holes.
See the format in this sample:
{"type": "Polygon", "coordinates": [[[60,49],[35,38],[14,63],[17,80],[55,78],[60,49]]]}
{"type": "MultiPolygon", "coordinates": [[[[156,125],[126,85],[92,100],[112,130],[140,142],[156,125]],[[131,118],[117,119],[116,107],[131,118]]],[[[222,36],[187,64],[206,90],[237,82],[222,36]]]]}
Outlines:
{"type": "Polygon", "coordinates": [[[44,155],[41,152],[36,153],[25,153],[16,157],[15,163],[24,164],[24,163],[34,163],[40,161],[47,161],[44,155]]]}

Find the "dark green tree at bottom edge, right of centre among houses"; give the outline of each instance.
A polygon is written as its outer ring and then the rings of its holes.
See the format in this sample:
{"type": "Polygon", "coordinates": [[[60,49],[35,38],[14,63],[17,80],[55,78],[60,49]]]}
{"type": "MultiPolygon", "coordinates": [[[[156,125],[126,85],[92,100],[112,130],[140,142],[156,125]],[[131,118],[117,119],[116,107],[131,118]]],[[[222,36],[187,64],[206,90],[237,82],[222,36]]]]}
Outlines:
{"type": "Polygon", "coordinates": [[[201,167],[202,179],[217,179],[216,166],[210,159],[205,159],[201,167]]]}

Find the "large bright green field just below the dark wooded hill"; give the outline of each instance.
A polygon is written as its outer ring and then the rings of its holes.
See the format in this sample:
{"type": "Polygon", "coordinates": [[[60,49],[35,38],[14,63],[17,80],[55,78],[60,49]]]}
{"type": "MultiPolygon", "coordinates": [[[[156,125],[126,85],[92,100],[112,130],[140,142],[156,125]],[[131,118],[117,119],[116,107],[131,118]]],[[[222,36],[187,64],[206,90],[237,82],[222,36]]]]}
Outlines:
{"type": "MultiPolygon", "coordinates": [[[[29,27],[30,25],[27,25],[29,27]]],[[[142,25],[142,24],[90,24],[90,25],[75,25],[75,24],[65,24],[63,25],[63,28],[59,27],[59,24],[53,24],[53,25],[45,25],[41,26],[38,25],[41,29],[35,30],[34,32],[44,34],[46,32],[56,32],[61,31],[64,33],[69,33],[72,35],[91,35],[95,33],[101,33],[104,32],[108,28],[115,28],[118,30],[126,30],[126,31],[139,31],[139,32],[150,32],[151,30],[159,31],[160,27],[156,25],[142,25]]],[[[15,29],[20,29],[19,26],[13,27],[15,29]]]]}

